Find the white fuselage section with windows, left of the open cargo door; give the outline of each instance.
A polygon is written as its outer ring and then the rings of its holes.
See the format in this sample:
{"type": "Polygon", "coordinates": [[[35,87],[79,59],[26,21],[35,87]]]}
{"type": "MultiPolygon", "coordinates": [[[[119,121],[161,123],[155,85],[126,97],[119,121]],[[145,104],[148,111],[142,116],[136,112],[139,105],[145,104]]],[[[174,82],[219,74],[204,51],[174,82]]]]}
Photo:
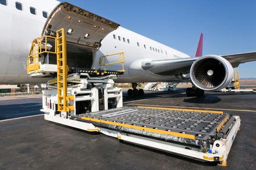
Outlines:
{"type": "Polygon", "coordinates": [[[8,0],[0,4],[0,84],[45,83],[45,79],[27,75],[27,55],[32,40],[39,37],[46,21],[42,11],[50,15],[59,4],[57,0],[8,0]],[[16,9],[20,2],[23,10],[16,9]],[[37,15],[30,13],[36,8],[37,15]]]}

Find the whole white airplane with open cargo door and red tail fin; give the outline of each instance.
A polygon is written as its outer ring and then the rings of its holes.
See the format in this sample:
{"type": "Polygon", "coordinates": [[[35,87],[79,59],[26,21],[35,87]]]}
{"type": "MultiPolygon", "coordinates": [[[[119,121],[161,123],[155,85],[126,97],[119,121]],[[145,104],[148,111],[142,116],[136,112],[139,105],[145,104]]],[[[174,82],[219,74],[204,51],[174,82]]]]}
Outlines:
{"type": "MultiPolygon", "coordinates": [[[[202,96],[230,84],[233,68],[256,61],[256,51],[202,56],[203,34],[195,56],[134,33],[104,17],[57,0],[0,0],[0,84],[45,83],[49,77],[31,78],[26,61],[31,41],[40,35],[67,33],[67,65],[98,68],[101,56],[125,53],[123,75],[116,83],[132,83],[129,96],[143,95],[138,83],[192,82],[187,96],[202,96]]],[[[50,57],[49,63],[56,63],[50,57]]],[[[115,62],[114,57],[108,62],[115,62]]],[[[110,65],[109,70],[120,66],[110,65]]]]}

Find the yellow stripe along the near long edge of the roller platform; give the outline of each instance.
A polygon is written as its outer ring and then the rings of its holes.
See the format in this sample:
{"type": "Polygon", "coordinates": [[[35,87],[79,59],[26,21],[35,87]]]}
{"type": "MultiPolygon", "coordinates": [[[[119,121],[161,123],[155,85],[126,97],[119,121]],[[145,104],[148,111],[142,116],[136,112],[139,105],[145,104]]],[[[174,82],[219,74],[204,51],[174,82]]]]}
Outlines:
{"type": "Polygon", "coordinates": [[[115,125],[115,126],[122,126],[122,127],[126,127],[126,128],[133,128],[133,129],[138,129],[138,130],[142,130],[142,131],[149,131],[149,132],[154,132],[154,133],[158,133],[158,134],[165,134],[165,135],[172,135],[172,136],[178,136],[178,137],[185,137],[185,138],[189,138],[189,139],[195,139],[194,135],[181,134],[181,133],[177,133],[177,132],[169,132],[169,131],[163,131],[163,130],[152,129],[152,128],[147,128],[147,127],[140,127],[140,126],[135,126],[135,125],[129,125],[129,124],[123,124],[123,123],[117,123],[117,122],[113,122],[113,121],[99,120],[99,119],[93,119],[93,118],[86,118],[86,117],[81,117],[81,119],[99,122],[99,123],[111,124],[111,125],[115,125]]]}

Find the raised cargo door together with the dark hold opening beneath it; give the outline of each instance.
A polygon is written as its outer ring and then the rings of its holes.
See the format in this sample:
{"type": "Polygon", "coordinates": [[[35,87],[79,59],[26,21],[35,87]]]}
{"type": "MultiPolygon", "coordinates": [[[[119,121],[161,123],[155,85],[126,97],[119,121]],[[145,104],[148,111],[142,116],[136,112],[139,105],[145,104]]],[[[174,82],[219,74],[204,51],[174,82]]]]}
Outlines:
{"type": "MultiPolygon", "coordinates": [[[[81,9],[67,2],[61,2],[48,17],[42,35],[55,36],[64,28],[67,41],[67,65],[76,68],[91,68],[94,54],[102,39],[116,30],[119,24],[81,9]]],[[[47,41],[48,42],[48,41],[47,41]]],[[[48,42],[55,48],[54,42],[48,42]]],[[[49,57],[49,64],[56,64],[56,57],[49,57]]]]}

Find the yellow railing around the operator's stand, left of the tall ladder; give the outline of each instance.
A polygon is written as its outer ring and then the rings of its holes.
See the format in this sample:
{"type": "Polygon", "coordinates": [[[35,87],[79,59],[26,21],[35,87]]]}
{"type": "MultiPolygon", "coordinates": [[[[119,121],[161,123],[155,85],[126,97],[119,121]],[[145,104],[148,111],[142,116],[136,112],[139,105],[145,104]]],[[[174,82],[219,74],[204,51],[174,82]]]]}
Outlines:
{"type": "Polygon", "coordinates": [[[48,36],[44,35],[37,39],[34,39],[32,42],[32,45],[30,47],[28,57],[27,57],[27,74],[33,72],[37,73],[39,72],[39,55],[42,53],[54,53],[56,52],[56,37],[54,36],[48,36]],[[54,51],[48,51],[47,50],[47,40],[53,39],[55,41],[55,50],[54,51]],[[44,49],[42,48],[44,43],[44,49]]]}

